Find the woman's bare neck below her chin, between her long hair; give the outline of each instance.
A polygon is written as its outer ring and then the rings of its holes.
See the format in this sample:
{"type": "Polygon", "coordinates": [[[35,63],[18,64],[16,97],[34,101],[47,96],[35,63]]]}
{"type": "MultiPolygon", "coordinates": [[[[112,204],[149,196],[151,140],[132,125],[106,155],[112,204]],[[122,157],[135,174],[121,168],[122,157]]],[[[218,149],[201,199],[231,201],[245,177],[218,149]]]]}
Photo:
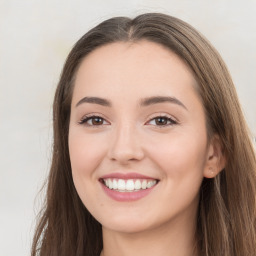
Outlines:
{"type": "Polygon", "coordinates": [[[102,256],[197,255],[195,230],[195,221],[172,221],[136,233],[117,232],[103,227],[102,256]]]}

